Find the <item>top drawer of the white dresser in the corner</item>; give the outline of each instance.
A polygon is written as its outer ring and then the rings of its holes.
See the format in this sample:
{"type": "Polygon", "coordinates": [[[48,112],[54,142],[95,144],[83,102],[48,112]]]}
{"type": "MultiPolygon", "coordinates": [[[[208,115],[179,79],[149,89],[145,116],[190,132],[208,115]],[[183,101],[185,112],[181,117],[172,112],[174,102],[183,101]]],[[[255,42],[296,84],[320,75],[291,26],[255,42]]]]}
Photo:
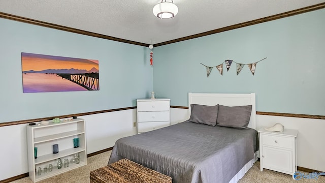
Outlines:
{"type": "Polygon", "coordinates": [[[146,101],[138,102],[138,111],[169,111],[169,101],[146,101]]]}

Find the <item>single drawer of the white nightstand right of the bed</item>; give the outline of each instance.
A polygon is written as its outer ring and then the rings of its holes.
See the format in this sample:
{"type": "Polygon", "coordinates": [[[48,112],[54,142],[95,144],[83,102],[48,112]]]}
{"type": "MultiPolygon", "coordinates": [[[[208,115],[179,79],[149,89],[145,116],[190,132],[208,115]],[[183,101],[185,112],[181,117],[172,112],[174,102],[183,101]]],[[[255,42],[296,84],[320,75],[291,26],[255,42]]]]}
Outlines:
{"type": "Polygon", "coordinates": [[[262,135],[263,145],[271,145],[275,147],[293,148],[293,138],[276,136],[276,135],[262,135]]]}

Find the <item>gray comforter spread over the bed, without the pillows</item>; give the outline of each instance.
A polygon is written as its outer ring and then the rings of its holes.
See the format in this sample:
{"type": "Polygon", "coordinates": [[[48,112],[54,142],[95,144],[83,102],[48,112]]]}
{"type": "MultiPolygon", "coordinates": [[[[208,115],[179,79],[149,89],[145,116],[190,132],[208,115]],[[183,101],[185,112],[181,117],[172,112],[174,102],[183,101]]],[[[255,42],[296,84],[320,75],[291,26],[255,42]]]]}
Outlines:
{"type": "Polygon", "coordinates": [[[109,164],[126,158],[173,182],[229,182],[258,149],[256,130],[185,121],[116,141],[109,164]]]}

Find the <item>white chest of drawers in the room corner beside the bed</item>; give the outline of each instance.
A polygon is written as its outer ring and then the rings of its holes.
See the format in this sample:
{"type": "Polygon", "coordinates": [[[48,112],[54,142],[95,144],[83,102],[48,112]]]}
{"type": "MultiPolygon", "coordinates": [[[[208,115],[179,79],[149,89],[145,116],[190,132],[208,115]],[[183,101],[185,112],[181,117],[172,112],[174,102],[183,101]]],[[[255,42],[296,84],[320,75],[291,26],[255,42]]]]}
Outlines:
{"type": "Polygon", "coordinates": [[[170,99],[137,99],[138,134],[171,125],[170,99]]]}

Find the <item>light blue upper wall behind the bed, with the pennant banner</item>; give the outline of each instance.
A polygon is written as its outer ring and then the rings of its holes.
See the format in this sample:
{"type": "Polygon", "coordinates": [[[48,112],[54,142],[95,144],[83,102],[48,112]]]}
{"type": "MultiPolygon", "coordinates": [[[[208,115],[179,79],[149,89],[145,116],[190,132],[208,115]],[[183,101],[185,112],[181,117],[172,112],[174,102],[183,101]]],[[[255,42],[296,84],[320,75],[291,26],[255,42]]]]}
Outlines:
{"type": "MultiPolygon", "coordinates": [[[[226,21],[226,20],[225,20],[226,21]]],[[[187,93],[256,93],[256,110],[325,115],[325,9],[154,48],[157,97],[187,106],[187,93]],[[206,67],[249,64],[223,76],[206,67]]]]}

